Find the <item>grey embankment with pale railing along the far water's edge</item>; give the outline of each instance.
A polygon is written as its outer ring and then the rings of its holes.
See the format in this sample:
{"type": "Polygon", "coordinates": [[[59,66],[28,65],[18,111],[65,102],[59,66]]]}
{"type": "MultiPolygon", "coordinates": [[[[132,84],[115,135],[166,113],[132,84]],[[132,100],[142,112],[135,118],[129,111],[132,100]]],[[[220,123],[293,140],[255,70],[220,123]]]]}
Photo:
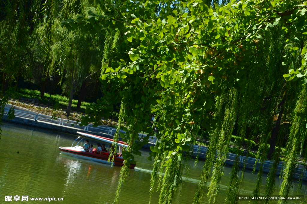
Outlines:
{"type": "MultiPolygon", "coordinates": [[[[15,110],[15,118],[12,120],[6,119],[6,114],[8,113],[9,108],[11,105],[7,105],[5,108],[5,116],[4,121],[7,122],[13,122],[17,124],[27,125],[27,126],[33,126],[37,128],[43,128],[43,129],[50,129],[55,131],[60,131],[63,133],[70,133],[70,134],[76,134],[79,135],[77,132],[87,132],[95,135],[100,135],[103,137],[109,137],[113,138],[114,134],[116,132],[115,128],[109,127],[107,125],[100,125],[98,127],[93,127],[92,125],[87,126],[80,126],[76,123],[76,121],[70,121],[66,119],[56,118],[52,119],[51,116],[43,115],[36,113],[34,111],[27,110],[25,108],[16,107],[14,106],[15,110]]],[[[121,130],[122,133],[125,133],[123,130],[121,130]]],[[[139,134],[139,137],[146,136],[143,134],[139,134]]],[[[156,137],[152,137],[149,139],[149,143],[144,145],[143,148],[149,149],[150,146],[154,146],[157,142],[156,137]]],[[[207,153],[207,147],[201,146],[201,145],[194,145],[193,146],[193,156],[196,157],[198,155],[198,158],[200,160],[205,160],[206,153],[207,153]]],[[[268,173],[270,171],[271,166],[273,165],[274,161],[266,160],[263,164],[259,162],[259,160],[256,160],[252,157],[246,157],[246,156],[239,156],[237,157],[236,154],[228,153],[227,159],[225,161],[226,165],[232,166],[235,163],[235,160],[239,161],[239,166],[243,167],[243,165],[246,165],[246,169],[253,170],[255,163],[256,163],[256,171],[259,170],[259,167],[263,166],[263,171],[265,173],[268,173]]],[[[278,164],[278,171],[276,172],[276,175],[280,175],[282,172],[284,165],[283,162],[280,162],[278,164]]],[[[307,181],[307,171],[306,167],[303,165],[297,165],[295,169],[294,178],[302,178],[304,181],[307,181]]]]}

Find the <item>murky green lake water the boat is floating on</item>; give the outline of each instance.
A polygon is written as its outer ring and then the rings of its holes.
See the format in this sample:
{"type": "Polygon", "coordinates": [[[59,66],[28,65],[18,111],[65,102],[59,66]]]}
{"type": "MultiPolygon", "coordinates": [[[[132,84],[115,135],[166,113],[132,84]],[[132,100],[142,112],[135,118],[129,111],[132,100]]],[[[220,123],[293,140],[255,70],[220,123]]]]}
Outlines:
{"type": "MultiPolygon", "coordinates": [[[[30,201],[33,197],[63,198],[63,201],[50,201],[59,204],[113,203],[120,167],[110,167],[107,164],[60,154],[58,147],[70,147],[76,135],[11,123],[5,123],[2,130],[0,204],[10,203],[4,201],[6,195],[12,195],[13,199],[15,195],[29,195],[28,202],[19,200],[17,203],[30,204],[48,202],[30,201]]],[[[137,166],[135,170],[130,170],[130,177],[120,193],[119,204],[148,203],[152,162],[147,160],[147,156],[149,152],[146,150],[142,151],[142,156],[136,156],[137,166]]],[[[191,164],[193,163],[194,161],[191,161],[191,164]]],[[[192,167],[189,174],[185,175],[183,185],[173,200],[174,204],[192,203],[202,165],[203,162],[199,162],[197,167],[192,167]]],[[[224,203],[230,170],[231,168],[225,167],[217,203],[224,203]]],[[[242,194],[250,195],[255,187],[256,175],[245,172],[244,177],[242,194]]],[[[263,183],[265,179],[263,176],[263,183]]],[[[277,178],[276,192],[280,184],[281,180],[277,178]]],[[[290,195],[296,195],[297,184],[294,184],[290,191],[290,195]]],[[[300,194],[307,195],[306,183],[303,183],[300,194]]],[[[153,204],[157,203],[158,196],[158,193],[153,194],[153,204]]],[[[301,201],[289,203],[302,203],[301,201]]],[[[15,203],[13,200],[12,202],[15,203]]],[[[205,198],[203,203],[208,203],[208,199],[205,198]]],[[[239,203],[248,202],[241,200],[239,203]]]]}

